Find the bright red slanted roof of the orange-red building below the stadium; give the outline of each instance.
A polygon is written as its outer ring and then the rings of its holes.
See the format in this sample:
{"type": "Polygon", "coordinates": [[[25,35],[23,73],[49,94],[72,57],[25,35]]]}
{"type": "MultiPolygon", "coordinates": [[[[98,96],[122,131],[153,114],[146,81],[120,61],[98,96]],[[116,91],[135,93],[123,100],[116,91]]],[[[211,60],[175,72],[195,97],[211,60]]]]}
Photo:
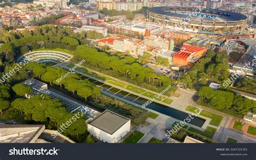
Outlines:
{"type": "Polygon", "coordinates": [[[200,51],[204,51],[204,50],[207,50],[207,49],[206,48],[201,48],[201,47],[198,47],[198,46],[184,44],[181,47],[181,50],[173,55],[173,58],[187,60],[187,58],[191,54],[197,53],[197,52],[200,52],[200,51]]]}

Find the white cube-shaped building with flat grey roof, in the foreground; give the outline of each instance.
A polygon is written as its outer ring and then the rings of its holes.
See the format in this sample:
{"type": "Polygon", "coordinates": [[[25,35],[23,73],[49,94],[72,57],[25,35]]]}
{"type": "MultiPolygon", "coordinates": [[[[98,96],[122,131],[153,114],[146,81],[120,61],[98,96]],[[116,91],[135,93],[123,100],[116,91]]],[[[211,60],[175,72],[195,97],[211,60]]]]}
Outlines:
{"type": "Polygon", "coordinates": [[[117,143],[130,129],[130,119],[110,110],[105,110],[87,124],[87,130],[92,136],[107,143],[117,143]]]}

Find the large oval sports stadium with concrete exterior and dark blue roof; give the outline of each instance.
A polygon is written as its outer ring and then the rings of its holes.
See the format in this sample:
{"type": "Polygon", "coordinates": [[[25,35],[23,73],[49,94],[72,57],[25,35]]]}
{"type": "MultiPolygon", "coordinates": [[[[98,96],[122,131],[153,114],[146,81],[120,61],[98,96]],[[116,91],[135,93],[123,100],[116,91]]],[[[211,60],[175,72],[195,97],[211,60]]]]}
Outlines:
{"type": "Polygon", "coordinates": [[[194,33],[240,33],[245,29],[247,17],[240,13],[190,8],[185,6],[157,6],[147,9],[150,23],[194,33]]]}

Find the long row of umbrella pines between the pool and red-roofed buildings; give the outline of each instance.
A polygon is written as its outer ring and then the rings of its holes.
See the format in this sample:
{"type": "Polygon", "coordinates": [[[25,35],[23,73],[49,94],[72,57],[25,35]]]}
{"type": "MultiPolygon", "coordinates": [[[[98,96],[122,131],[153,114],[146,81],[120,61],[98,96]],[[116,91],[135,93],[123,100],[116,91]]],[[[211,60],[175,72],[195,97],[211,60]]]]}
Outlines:
{"type": "Polygon", "coordinates": [[[83,59],[87,65],[100,68],[104,71],[110,71],[120,77],[125,76],[140,84],[146,83],[156,87],[167,87],[171,85],[167,76],[154,74],[152,68],[143,67],[132,57],[119,58],[98,52],[94,48],[78,46],[77,50],[74,51],[73,60],[79,62],[83,59]]]}

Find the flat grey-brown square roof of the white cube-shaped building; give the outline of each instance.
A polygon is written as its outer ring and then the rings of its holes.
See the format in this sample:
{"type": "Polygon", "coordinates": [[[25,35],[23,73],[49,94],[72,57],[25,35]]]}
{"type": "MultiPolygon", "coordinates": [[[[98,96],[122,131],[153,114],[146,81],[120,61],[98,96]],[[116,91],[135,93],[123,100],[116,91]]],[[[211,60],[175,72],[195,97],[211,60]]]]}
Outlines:
{"type": "Polygon", "coordinates": [[[111,112],[110,110],[105,110],[89,124],[112,135],[128,121],[130,121],[130,119],[111,112]]]}

